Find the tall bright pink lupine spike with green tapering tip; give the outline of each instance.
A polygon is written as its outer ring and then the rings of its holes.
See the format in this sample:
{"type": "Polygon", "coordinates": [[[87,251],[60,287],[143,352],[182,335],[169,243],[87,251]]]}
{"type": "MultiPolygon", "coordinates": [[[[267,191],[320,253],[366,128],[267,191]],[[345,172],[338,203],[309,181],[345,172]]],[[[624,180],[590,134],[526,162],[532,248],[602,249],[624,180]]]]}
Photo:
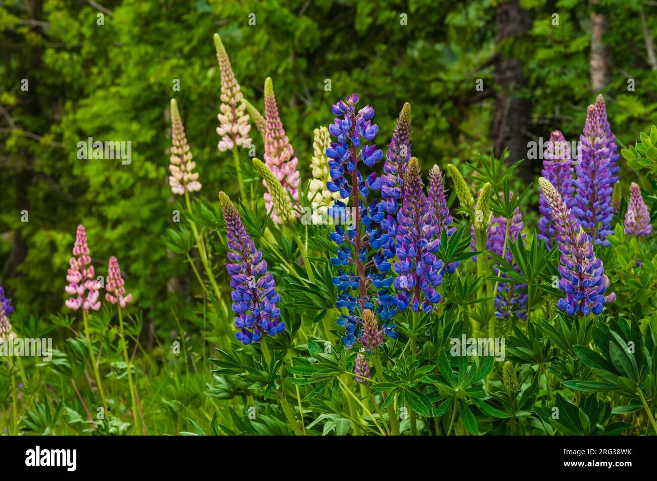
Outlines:
{"type": "MultiPolygon", "coordinates": [[[[290,192],[294,201],[299,201],[299,171],[296,169],[298,159],[294,157],[292,144],[285,135],[279,110],[276,105],[274,86],[271,78],[265,80],[265,119],[267,131],[265,135],[265,165],[271,173],[281,182],[283,188],[290,192]]],[[[267,184],[263,181],[265,186],[267,184]]],[[[267,210],[273,205],[273,193],[265,192],[265,205],[267,210]]],[[[278,222],[273,217],[274,222],[278,222]]]]}

